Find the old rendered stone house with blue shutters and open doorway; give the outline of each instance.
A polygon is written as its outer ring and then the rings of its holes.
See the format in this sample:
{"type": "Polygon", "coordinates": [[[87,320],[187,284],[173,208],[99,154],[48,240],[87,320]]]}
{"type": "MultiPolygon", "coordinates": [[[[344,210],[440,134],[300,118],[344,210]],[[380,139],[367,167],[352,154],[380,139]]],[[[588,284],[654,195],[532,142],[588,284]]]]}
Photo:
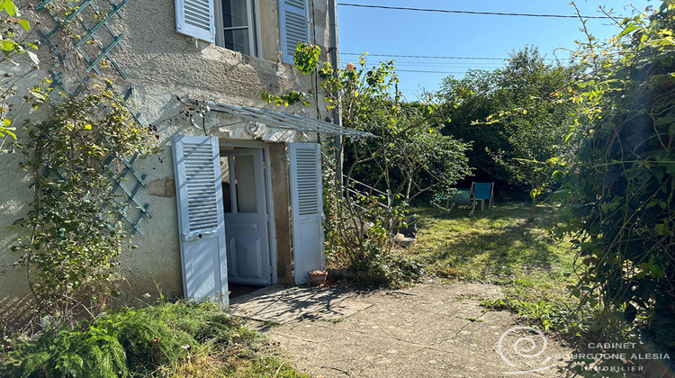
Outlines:
{"type": "MultiPolygon", "coordinates": [[[[159,284],[166,296],[217,297],[228,283],[303,284],[324,266],[319,142],[363,133],[325,109],[279,108],[260,94],[316,87],[292,64],[298,41],[337,66],[334,0],[15,3],[40,21],[41,40],[40,64],[17,88],[47,77],[76,94],[102,76],[139,124],[157,126],[163,152],[124,161],[116,188],[139,246],[123,257],[127,292],[159,284]]],[[[19,158],[0,155],[3,229],[31,202],[19,158]]],[[[12,266],[16,232],[0,238],[0,317],[10,321],[30,302],[24,269],[12,266]]]]}

